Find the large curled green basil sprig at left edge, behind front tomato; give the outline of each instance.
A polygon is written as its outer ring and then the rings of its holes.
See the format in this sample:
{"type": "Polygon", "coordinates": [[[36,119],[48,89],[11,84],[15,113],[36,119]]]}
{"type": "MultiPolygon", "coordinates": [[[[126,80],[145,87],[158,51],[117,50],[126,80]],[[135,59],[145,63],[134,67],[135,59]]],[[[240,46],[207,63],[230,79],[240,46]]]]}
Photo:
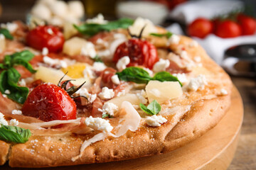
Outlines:
{"type": "Polygon", "coordinates": [[[0,91],[1,94],[5,94],[8,98],[18,102],[24,103],[28,96],[28,88],[18,86],[18,80],[21,74],[14,69],[14,65],[23,65],[29,72],[34,73],[31,64],[28,62],[33,58],[33,53],[25,50],[23,52],[16,52],[13,55],[6,55],[4,57],[4,63],[0,65],[0,69],[4,69],[0,74],[0,91]],[[10,93],[6,93],[8,90],[10,93]]]}

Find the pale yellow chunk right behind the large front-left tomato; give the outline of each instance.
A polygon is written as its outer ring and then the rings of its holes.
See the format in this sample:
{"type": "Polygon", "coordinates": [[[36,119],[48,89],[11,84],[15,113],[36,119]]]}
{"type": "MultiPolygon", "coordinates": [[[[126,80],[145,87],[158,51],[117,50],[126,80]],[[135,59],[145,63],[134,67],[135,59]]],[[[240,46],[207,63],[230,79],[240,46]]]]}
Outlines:
{"type": "MultiPolygon", "coordinates": [[[[37,69],[35,74],[36,79],[41,79],[44,82],[49,82],[52,84],[58,84],[58,81],[64,76],[65,74],[58,69],[52,69],[48,67],[40,66],[37,69]]],[[[71,79],[69,76],[65,76],[63,81],[71,79]]]]}

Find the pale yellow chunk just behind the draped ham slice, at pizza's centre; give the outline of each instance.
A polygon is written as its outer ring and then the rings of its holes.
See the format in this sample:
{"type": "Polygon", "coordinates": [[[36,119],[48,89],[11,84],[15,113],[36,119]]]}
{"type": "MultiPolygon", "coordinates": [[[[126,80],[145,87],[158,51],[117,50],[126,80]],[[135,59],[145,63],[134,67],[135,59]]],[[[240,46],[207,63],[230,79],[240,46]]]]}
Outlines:
{"type": "Polygon", "coordinates": [[[112,98],[110,101],[106,103],[114,103],[118,108],[121,108],[123,101],[129,101],[132,105],[139,105],[140,101],[136,94],[125,94],[124,96],[119,96],[112,98]]]}

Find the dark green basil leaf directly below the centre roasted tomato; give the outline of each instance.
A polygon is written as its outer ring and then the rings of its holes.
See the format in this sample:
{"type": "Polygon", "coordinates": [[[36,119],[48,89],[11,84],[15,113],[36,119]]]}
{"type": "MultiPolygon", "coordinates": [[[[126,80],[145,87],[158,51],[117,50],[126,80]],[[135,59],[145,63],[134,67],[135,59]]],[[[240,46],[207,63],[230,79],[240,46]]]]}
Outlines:
{"type": "Polygon", "coordinates": [[[149,73],[139,67],[127,67],[116,74],[123,81],[133,81],[137,84],[146,84],[151,80],[149,73]]]}

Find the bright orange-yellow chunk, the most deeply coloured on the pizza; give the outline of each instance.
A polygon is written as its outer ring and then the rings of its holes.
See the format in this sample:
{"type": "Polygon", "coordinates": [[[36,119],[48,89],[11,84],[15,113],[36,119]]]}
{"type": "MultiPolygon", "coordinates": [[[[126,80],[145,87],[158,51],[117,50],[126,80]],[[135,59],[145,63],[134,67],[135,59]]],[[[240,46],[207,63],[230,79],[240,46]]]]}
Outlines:
{"type": "Polygon", "coordinates": [[[86,67],[85,64],[77,63],[77,64],[70,65],[66,68],[62,68],[61,71],[63,71],[63,73],[68,72],[67,75],[73,79],[78,79],[78,78],[84,77],[82,72],[85,70],[85,67],[86,67]]]}

